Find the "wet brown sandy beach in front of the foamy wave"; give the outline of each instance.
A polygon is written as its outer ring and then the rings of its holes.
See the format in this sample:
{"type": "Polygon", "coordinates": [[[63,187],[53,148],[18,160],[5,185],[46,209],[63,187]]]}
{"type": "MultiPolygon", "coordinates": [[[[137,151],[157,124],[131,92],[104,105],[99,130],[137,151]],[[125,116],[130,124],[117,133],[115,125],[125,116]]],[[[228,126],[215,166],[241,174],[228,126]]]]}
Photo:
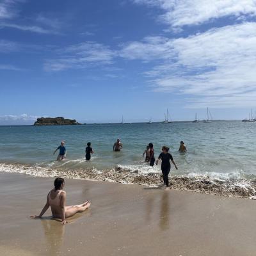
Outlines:
{"type": "Polygon", "coordinates": [[[67,205],[92,207],[63,227],[29,219],[52,183],[0,173],[1,255],[256,255],[255,200],[66,179],[67,205]]]}

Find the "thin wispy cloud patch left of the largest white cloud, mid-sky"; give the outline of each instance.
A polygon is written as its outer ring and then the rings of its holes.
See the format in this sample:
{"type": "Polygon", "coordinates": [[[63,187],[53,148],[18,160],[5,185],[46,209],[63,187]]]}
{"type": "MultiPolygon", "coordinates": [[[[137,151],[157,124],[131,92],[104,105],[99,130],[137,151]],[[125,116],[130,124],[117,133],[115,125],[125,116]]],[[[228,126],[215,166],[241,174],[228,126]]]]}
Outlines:
{"type": "Polygon", "coordinates": [[[56,59],[45,61],[46,71],[60,71],[67,68],[86,68],[113,63],[116,52],[103,44],[83,42],[70,45],[58,52],[56,59]]]}

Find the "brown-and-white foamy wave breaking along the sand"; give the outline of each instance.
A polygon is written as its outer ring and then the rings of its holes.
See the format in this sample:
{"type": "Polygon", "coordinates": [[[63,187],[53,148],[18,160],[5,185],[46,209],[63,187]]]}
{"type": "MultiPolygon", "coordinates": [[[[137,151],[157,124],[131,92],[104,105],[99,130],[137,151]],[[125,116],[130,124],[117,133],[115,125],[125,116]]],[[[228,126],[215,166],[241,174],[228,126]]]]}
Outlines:
{"type": "MultiPolygon", "coordinates": [[[[60,170],[59,168],[43,168],[29,164],[0,163],[0,173],[24,173],[34,177],[63,177],[65,179],[97,180],[136,184],[157,188],[162,182],[161,173],[140,173],[138,170],[112,168],[110,170],[60,170]]],[[[256,199],[256,180],[245,179],[212,179],[205,175],[170,175],[172,189],[192,191],[209,195],[234,196],[238,198],[256,199]]]]}

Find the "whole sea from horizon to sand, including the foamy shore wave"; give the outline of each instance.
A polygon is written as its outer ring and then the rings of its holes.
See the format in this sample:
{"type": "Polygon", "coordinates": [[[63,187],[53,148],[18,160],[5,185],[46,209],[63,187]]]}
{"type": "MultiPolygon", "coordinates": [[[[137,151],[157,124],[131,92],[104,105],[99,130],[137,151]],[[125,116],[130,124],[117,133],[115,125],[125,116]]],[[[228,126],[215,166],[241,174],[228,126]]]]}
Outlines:
{"type": "Polygon", "coordinates": [[[87,124],[72,126],[0,126],[0,171],[76,179],[108,180],[147,186],[161,184],[161,164],[150,167],[142,154],[154,144],[170,147],[172,187],[214,195],[256,196],[256,122],[215,121],[170,124],[87,124]],[[113,152],[120,138],[121,152],[113,152]],[[65,141],[67,159],[54,150],[65,141]],[[178,152],[180,141],[188,148],[178,152]],[[85,161],[87,142],[95,154],[85,161]]]}

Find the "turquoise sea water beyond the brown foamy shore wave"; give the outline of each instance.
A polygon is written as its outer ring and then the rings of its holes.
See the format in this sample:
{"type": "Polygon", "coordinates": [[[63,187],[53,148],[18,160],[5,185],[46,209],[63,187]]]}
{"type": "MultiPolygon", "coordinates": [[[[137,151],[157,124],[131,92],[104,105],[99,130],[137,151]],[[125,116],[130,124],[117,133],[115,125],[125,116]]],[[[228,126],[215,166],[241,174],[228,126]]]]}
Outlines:
{"type": "Polygon", "coordinates": [[[142,154],[154,143],[156,157],[163,145],[170,147],[179,170],[174,174],[200,173],[214,177],[252,177],[256,175],[256,122],[216,121],[212,123],[173,122],[171,124],[96,124],[76,126],[2,126],[2,163],[21,163],[63,170],[106,170],[120,166],[141,173],[159,172],[150,168],[142,154]],[[113,152],[120,138],[122,152],[113,152]],[[52,152],[65,140],[67,159],[56,162],[52,152]],[[188,148],[179,154],[180,140],[188,148]],[[95,150],[92,161],[84,160],[86,143],[95,150]]]}

